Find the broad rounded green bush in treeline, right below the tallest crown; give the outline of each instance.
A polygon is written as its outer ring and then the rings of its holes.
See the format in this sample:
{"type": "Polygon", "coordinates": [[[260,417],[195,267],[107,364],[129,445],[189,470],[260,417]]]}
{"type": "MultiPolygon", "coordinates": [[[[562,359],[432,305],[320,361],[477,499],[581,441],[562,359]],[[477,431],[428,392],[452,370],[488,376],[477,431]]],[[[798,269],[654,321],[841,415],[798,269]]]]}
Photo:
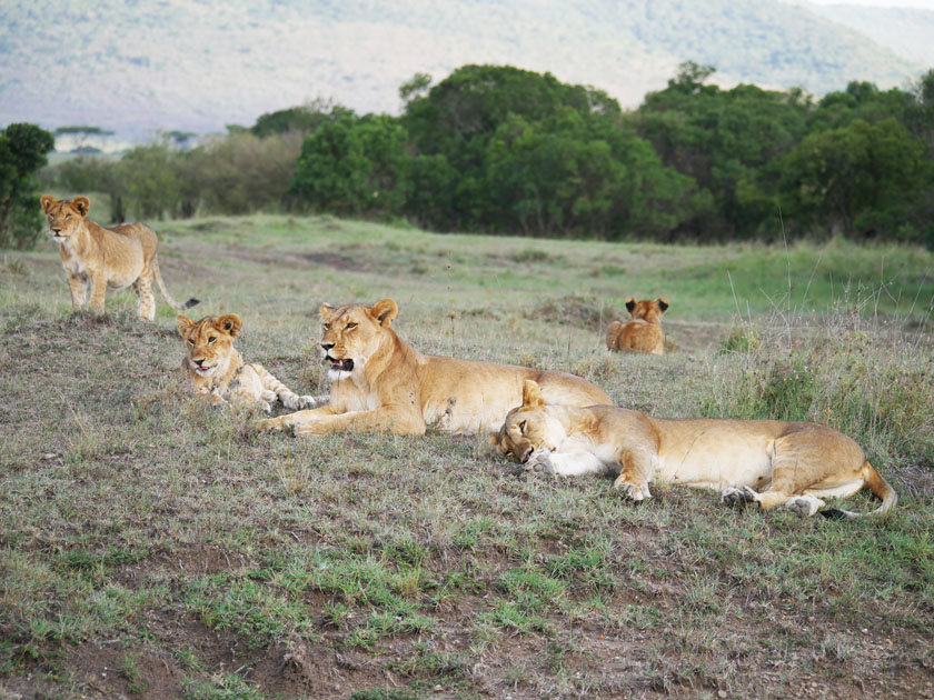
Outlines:
{"type": "Polygon", "coordinates": [[[668,238],[694,183],[662,166],[616,119],[573,110],[535,123],[510,117],[487,154],[489,218],[533,236],[668,238]]]}

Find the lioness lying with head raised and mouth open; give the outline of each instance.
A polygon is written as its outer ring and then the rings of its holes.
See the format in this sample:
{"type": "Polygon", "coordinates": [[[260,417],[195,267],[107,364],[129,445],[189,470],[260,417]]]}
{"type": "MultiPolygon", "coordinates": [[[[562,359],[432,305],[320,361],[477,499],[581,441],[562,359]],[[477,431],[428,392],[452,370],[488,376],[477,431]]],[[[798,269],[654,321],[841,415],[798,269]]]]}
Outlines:
{"type": "Polygon", "coordinates": [[[331,379],[330,400],[262,426],[292,427],[304,436],[346,430],[423,434],[428,427],[454,433],[489,431],[519,402],[526,379],[537,381],[550,401],[612,403],[600,389],[574,374],[421,354],[390,328],[397,313],[391,299],[372,307],[322,304],[321,349],[331,379]]]}

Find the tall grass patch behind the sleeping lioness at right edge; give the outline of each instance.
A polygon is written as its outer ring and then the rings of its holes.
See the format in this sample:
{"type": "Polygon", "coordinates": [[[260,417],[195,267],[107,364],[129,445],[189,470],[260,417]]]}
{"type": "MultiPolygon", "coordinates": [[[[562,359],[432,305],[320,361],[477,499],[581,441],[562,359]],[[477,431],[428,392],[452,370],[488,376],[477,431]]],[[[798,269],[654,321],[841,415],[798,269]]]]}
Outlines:
{"type": "Polygon", "coordinates": [[[706,416],[828,424],[880,464],[934,462],[928,338],[838,310],[818,324],[744,326],[723,344],[732,372],[706,416]]]}

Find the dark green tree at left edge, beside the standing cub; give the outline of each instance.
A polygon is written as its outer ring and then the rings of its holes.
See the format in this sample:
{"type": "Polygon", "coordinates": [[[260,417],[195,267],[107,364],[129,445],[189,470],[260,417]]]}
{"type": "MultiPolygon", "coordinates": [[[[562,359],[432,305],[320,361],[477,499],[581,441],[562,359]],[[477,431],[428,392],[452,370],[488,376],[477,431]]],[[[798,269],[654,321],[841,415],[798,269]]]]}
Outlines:
{"type": "Polygon", "coordinates": [[[54,148],[51,133],[30,123],[0,131],[0,247],[31,248],[42,227],[37,172],[54,148]]]}

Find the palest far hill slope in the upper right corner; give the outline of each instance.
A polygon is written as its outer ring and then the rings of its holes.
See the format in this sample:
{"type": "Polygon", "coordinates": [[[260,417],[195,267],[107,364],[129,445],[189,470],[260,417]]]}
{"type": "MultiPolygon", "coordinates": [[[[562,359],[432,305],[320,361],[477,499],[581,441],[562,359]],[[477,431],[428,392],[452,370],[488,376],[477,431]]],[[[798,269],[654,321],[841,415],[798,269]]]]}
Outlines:
{"type": "Polygon", "coordinates": [[[932,10],[870,8],[862,4],[815,4],[809,9],[870,37],[898,56],[934,67],[932,10]]]}

